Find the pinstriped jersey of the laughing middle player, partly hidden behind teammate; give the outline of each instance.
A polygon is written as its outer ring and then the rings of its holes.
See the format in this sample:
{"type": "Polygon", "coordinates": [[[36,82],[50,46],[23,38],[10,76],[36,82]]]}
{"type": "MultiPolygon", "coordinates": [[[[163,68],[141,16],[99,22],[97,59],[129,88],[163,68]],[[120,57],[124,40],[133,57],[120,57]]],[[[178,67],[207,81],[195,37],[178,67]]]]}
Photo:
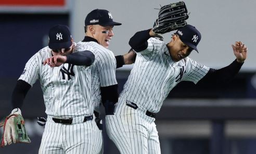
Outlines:
{"type": "Polygon", "coordinates": [[[76,50],[82,51],[86,46],[91,46],[91,52],[95,55],[92,65],[92,94],[93,104],[96,111],[99,111],[101,103],[100,87],[117,84],[116,66],[117,61],[114,54],[97,42],[79,42],[76,50]]]}

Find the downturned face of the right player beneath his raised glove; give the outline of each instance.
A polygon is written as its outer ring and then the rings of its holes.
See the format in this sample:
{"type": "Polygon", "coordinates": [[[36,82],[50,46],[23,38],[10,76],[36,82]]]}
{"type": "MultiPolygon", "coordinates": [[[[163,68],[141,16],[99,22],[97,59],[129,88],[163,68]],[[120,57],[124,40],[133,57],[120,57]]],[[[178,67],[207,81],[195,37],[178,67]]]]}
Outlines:
{"type": "Polygon", "coordinates": [[[167,44],[167,47],[169,49],[172,60],[175,62],[186,58],[192,51],[192,49],[184,44],[180,37],[176,34],[173,35],[172,40],[167,44]]]}

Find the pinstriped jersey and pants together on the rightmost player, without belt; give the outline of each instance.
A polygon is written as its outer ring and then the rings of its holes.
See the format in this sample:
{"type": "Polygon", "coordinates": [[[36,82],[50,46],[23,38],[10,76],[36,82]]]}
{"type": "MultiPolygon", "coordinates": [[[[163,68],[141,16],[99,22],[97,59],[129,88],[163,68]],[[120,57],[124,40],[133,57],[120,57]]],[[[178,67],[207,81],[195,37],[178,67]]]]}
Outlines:
{"type": "Polygon", "coordinates": [[[148,117],[146,111],[159,112],[173,87],[181,81],[196,84],[208,71],[208,67],[188,57],[174,62],[163,41],[149,38],[147,49],[137,53],[114,115],[106,116],[108,136],[119,151],[161,153],[155,119],[148,117]],[[138,108],[128,107],[126,102],[138,108]]]}

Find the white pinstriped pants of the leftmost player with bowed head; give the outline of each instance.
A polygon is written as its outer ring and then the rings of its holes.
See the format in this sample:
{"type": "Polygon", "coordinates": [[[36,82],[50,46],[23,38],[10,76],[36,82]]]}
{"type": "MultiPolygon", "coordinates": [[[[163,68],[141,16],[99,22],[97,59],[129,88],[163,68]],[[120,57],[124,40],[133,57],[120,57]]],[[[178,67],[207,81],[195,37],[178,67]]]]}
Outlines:
{"type": "Polygon", "coordinates": [[[48,116],[39,153],[103,153],[103,136],[94,120],[67,125],[48,116]]]}

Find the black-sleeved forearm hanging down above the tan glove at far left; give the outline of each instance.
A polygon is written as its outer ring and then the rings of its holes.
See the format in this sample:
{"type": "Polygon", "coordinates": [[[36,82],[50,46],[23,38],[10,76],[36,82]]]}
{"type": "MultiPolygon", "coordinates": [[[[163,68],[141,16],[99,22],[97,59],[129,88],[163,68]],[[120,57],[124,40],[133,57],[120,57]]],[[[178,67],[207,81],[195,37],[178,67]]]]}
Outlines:
{"type": "Polygon", "coordinates": [[[21,108],[24,98],[27,95],[31,85],[23,80],[18,80],[11,95],[12,108],[21,108]]]}

